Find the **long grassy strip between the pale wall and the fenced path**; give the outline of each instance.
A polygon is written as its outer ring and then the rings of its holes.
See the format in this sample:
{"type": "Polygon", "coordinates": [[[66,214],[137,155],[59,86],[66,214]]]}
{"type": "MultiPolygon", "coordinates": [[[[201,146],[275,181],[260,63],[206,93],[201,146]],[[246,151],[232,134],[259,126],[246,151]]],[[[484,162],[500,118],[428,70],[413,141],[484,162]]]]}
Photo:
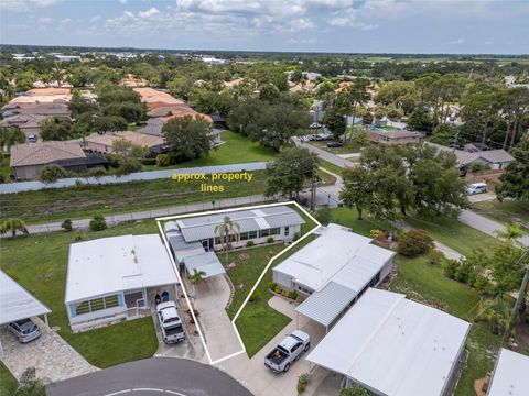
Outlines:
{"type": "Polygon", "coordinates": [[[264,170],[253,172],[250,183],[235,180],[215,182],[224,185],[223,193],[201,193],[201,180],[176,182],[159,179],[131,182],[107,186],[80,186],[43,189],[2,195],[0,218],[17,217],[28,223],[50,220],[79,219],[94,215],[122,213],[169,206],[209,201],[262,194],[266,186],[264,170]]]}

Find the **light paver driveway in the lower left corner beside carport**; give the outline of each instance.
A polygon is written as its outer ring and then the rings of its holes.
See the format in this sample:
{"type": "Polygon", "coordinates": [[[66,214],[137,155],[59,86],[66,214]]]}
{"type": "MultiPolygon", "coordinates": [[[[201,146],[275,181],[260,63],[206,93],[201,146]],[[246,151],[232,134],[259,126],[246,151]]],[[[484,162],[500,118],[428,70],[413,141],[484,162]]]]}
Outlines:
{"type": "Polygon", "coordinates": [[[0,329],[3,356],[1,360],[9,371],[20,378],[30,367],[35,367],[36,376],[52,382],[93,373],[98,369],[89,364],[55,331],[44,322],[34,319],[42,336],[30,343],[21,344],[6,328],[0,329]]]}

